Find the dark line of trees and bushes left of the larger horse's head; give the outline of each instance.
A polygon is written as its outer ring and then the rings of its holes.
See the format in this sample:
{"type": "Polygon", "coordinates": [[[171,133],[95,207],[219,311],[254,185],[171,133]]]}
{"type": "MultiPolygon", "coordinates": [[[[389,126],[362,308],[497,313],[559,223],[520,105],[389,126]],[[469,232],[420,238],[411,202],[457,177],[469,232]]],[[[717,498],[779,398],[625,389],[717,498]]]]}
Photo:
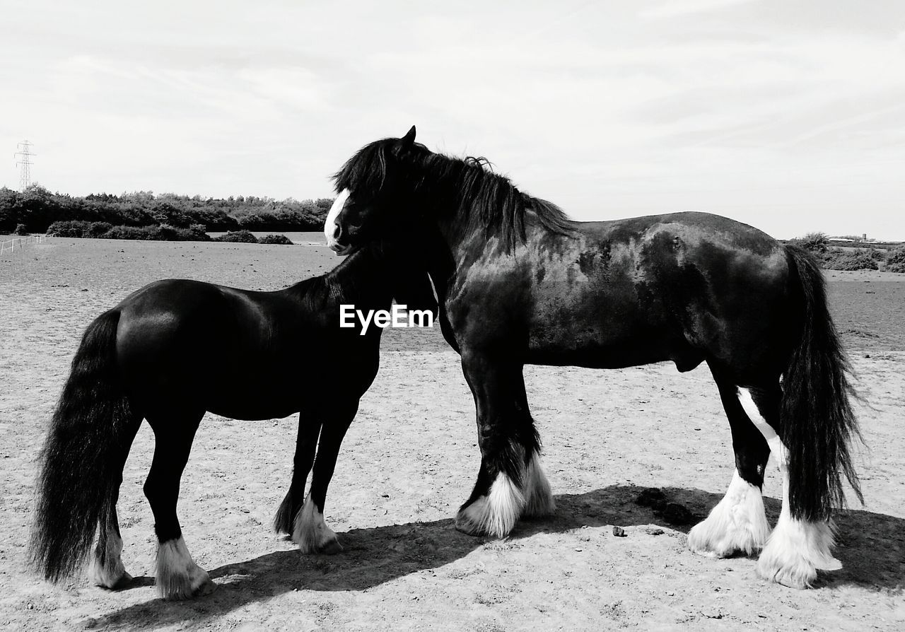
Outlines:
{"type": "Polygon", "coordinates": [[[111,226],[190,227],[202,231],[319,231],[333,200],[229,196],[177,196],[150,191],[69,196],[40,185],[24,191],[0,188],[0,233],[17,228],[44,233],[54,222],[101,222],[111,226]]]}

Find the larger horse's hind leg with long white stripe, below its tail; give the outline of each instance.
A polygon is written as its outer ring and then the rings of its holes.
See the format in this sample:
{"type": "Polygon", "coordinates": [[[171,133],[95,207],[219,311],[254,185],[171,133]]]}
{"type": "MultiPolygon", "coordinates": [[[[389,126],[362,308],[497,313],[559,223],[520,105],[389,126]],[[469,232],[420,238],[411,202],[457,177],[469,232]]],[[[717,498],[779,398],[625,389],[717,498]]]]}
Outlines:
{"type": "MultiPolygon", "coordinates": [[[[777,386],[776,393],[778,391],[777,386]]],[[[842,568],[842,562],[836,560],[832,553],[834,526],[832,522],[792,517],[786,446],[777,435],[777,432],[782,433],[778,423],[778,395],[757,390],[748,393],[742,389],[740,399],[748,415],[757,419],[757,429],[763,433],[770,450],[776,455],[783,476],[783,508],[776,528],[757,559],[757,574],[790,588],[804,589],[817,578],[817,570],[842,568]]]]}

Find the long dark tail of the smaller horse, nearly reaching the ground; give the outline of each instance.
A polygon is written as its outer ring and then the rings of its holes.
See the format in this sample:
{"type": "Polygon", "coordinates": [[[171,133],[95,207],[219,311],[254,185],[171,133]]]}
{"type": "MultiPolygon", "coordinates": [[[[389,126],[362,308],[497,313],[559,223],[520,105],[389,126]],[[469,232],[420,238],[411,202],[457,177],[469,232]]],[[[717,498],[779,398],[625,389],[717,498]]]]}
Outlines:
{"type": "Polygon", "coordinates": [[[134,436],[116,365],[118,323],[111,310],[85,330],[40,456],[30,555],[52,581],[79,570],[98,523],[115,511],[134,436]]]}

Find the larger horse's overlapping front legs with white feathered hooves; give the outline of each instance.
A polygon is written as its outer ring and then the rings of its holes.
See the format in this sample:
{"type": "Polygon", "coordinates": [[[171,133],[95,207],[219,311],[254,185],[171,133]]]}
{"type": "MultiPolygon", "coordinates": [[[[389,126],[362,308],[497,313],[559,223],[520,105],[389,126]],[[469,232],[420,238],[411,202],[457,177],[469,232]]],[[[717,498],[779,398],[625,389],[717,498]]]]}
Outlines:
{"type": "Polygon", "coordinates": [[[521,515],[554,509],[522,369],[509,360],[462,351],[462,371],[477,411],[481,469],[471,497],[456,515],[459,531],[503,537],[521,515]]]}

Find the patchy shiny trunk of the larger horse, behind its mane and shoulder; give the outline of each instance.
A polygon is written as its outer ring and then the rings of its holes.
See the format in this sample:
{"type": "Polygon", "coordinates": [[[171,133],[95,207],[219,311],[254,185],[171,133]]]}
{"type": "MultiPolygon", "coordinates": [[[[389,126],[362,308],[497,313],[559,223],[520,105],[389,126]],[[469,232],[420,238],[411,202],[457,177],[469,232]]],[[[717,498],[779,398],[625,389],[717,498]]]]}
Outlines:
{"type": "MultiPolygon", "coordinates": [[[[705,213],[579,222],[529,235],[530,358],[619,367],[753,358],[788,324],[783,244],[705,213]]],[[[784,347],[785,348],[785,347],[784,347]]]]}

